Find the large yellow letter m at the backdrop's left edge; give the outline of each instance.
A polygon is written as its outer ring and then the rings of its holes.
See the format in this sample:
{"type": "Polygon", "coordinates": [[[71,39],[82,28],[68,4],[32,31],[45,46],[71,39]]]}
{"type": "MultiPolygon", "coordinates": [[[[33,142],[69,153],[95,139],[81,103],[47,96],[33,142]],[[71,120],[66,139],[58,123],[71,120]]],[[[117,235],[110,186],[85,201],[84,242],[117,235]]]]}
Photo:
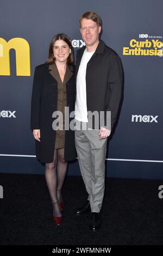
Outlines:
{"type": "Polygon", "coordinates": [[[15,50],[16,75],[30,76],[30,47],[26,39],[0,38],[0,76],[10,76],[10,50],[15,50]]]}

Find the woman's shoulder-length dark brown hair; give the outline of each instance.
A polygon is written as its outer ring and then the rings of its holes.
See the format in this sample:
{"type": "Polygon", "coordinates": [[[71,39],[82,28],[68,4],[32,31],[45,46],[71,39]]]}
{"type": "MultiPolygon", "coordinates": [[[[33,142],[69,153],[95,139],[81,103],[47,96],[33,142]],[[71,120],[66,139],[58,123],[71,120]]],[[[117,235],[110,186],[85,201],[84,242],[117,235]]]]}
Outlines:
{"type": "Polygon", "coordinates": [[[55,58],[53,56],[53,47],[54,47],[55,41],[57,41],[57,40],[65,41],[66,44],[70,47],[71,53],[69,54],[69,56],[67,58],[67,65],[71,65],[74,62],[73,48],[72,48],[72,45],[71,45],[70,38],[68,38],[68,36],[64,33],[54,35],[54,37],[52,38],[51,44],[49,46],[49,56],[48,56],[48,59],[47,59],[46,63],[47,64],[54,64],[54,62],[55,62],[55,58]]]}

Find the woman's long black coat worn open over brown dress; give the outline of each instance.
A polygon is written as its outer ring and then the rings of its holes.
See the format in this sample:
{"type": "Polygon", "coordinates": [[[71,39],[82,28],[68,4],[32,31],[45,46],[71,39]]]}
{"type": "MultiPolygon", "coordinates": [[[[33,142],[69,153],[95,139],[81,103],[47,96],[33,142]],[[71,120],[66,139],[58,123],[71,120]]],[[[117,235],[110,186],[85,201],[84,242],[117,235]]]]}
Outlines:
{"type": "MultiPolygon", "coordinates": [[[[30,128],[40,129],[40,141],[36,141],[36,157],[42,163],[53,162],[55,131],[52,123],[54,111],[57,111],[58,86],[53,77],[51,66],[42,64],[36,66],[32,92],[30,128]]],[[[68,66],[72,72],[70,80],[66,83],[67,106],[74,111],[75,95],[75,67],[68,66]]],[[[70,118],[70,121],[73,118],[70,118]]],[[[65,131],[65,161],[76,158],[74,144],[74,131],[65,131]]]]}

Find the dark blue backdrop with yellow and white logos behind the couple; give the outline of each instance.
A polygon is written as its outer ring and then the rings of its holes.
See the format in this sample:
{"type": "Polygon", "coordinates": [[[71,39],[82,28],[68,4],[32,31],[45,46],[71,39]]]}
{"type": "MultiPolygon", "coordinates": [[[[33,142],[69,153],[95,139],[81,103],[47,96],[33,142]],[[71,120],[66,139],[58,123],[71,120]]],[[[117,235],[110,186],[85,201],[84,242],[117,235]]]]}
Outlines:
{"type": "MultiPolygon", "coordinates": [[[[46,62],[49,42],[60,32],[74,54],[84,45],[79,17],[96,11],[102,40],[121,57],[124,93],[108,145],[107,175],[163,179],[162,0],[1,0],[0,172],[44,173],[30,131],[34,69],[46,62]]],[[[78,160],[68,175],[80,175],[78,160]]]]}

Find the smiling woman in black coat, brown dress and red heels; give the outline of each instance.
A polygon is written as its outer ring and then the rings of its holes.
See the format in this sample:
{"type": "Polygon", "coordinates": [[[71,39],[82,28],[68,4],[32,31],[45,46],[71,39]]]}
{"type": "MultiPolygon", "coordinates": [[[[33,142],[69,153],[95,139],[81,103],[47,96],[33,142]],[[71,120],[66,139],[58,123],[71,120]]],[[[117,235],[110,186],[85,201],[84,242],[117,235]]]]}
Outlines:
{"type": "MultiPolygon", "coordinates": [[[[36,140],[36,157],[45,163],[46,182],[53,204],[53,220],[57,225],[62,221],[61,210],[64,208],[64,202],[61,188],[67,161],[76,158],[76,149],[74,131],[57,130],[53,123],[57,119],[53,118],[52,114],[60,111],[64,118],[66,106],[69,107],[70,113],[74,111],[73,60],[72,45],[68,36],[55,35],[49,46],[47,62],[35,68],[32,92],[31,129],[36,140]]],[[[62,125],[64,128],[64,121],[62,125]]]]}

